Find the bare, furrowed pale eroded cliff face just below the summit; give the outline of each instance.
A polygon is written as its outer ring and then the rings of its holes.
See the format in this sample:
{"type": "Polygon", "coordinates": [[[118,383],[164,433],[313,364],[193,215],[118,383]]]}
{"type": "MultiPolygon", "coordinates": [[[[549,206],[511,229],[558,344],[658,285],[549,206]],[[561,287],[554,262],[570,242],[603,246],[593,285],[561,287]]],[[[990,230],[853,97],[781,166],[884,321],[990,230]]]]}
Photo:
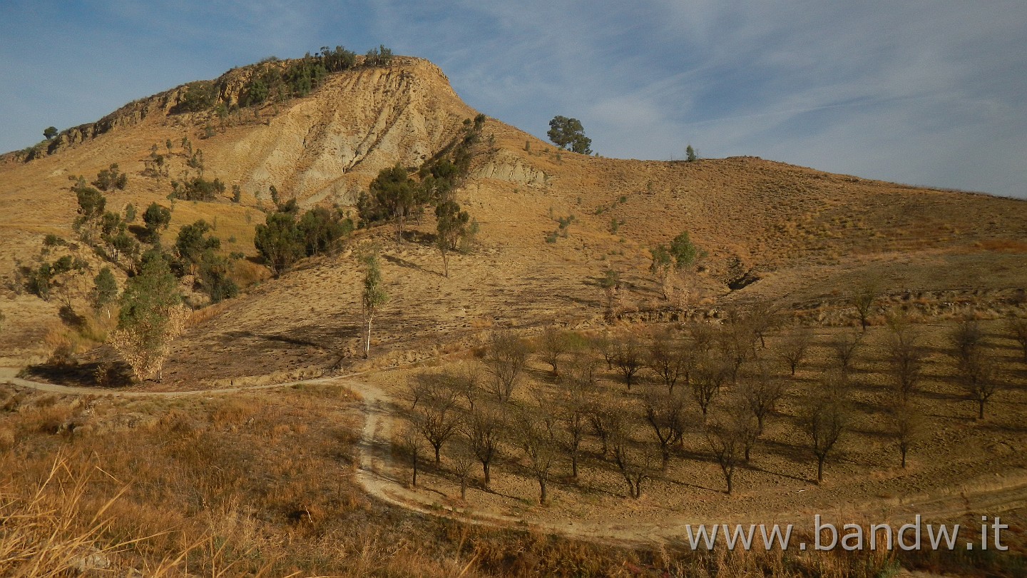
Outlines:
{"type": "Polygon", "coordinates": [[[419,166],[474,114],[438,67],[410,59],[338,74],[218,152],[244,188],[352,204],[381,169],[419,166]]]}

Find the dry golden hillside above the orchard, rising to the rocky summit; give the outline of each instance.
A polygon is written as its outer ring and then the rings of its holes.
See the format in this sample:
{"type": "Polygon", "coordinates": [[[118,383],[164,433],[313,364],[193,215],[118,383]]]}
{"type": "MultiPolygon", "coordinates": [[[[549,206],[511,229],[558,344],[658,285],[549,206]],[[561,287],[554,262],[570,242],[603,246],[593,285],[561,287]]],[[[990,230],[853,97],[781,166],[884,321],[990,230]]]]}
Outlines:
{"type": "MultiPolygon", "coordinates": [[[[226,74],[219,98],[238,101],[248,69],[226,74]],[[234,91],[234,92],[233,92],[234,91]]],[[[386,68],[331,75],[304,98],[242,108],[224,117],[177,112],[184,87],[145,99],[96,125],[66,131],[53,153],[0,164],[0,272],[14,285],[15,259],[28,263],[42,240],[74,239],[76,202],[69,177],[91,178],[112,162],[129,175],[110,207],[168,204],[170,180],[202,151],[203,174],[229,191],[216,202],[176,202],[174,242],[183,224],[203,218],[223,248],[256,255],[254,226],[270,207],[268,189],[301,207],[352,206],[383,168],[415,168],[456,138],[477,111],[454,94],[445,74],[402,58],[386,68]],[[91,128],[90,128],[91,127],[91,128]],[[165,176],[146,176],[153,147],[165,152],[165,176]]],[[[836,314],[861,280],[873,277],[896,299],[918,306],[1006,306],[1024,286],[1027,203],[983,194],[914,188],[822,173],[754,157],[695,162],[584,156],[543,143],[489,118],[457,200],[481,225],[479,248],[457,255],[451,275],[430,243],[433,218],[412,224],[396,242],[391,227],[358,230],[335,257],[301,262],[278,280],[202,316],[175,346],[165,387],[196,378],[232,382],[267,373],[316,372],[354,363],[360,269],[352,249],[381,244],[391,300],[376,348],[380,363],[436,355],[479,342],[490,327],[551,322],[601,324],[599,280],[620,273],[617,310],[627,319],[671,309],[648,273],[649,248],[682,230],[709,253],[690,282],[686,309],[718,302],[779,299],[820,317],[836,314]],[[573,215],[566,238],[546,237],[573,215]],[[616,221],[617,225],[612,226],[616,221]],[[614,232],[615,229],[615,232],[614,232]],[[748,274],[748,275],[747,275],[748,274]],[[746,285],[731,291],[728,284],[746,285]],[[943,303],[950,303],[943,305],[943,303]]],[[[353,212],[355,215],[355,211],[353,212]]],[[[99,262],[90,261],[93,270],[99,262]]],[[[252,259],[256,260],[256,259],[252,259]]],[[[239,275],[266,279],[254,263],[239,275]]],[[[65,291],[81,303],[88,283],[65,291]]],[[[69,284],[74,285],[74,284],[69,284]]],[[[1022,297],[1021,297],[1022,298],[1022,297]]],[[[0,342],[24,362],[46,354],[62,299],[43,301],[7,290],[0,342]]],[[[682,304],[679,302],[678,304],[682,304]]],[[[80,305],[79,305],[80,306],[80,305]]],[[[958,308],[956,308],[958,309],[958,308]]]]}

